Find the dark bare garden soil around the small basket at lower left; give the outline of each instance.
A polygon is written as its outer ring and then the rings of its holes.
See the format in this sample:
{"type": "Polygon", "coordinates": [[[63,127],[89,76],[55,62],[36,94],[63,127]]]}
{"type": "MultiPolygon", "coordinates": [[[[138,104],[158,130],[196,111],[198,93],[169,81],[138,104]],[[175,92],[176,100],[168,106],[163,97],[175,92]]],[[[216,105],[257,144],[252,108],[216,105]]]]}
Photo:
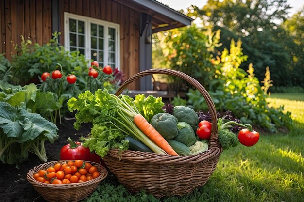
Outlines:
{"type": "MultiPolygon", "coordinates": [[[[45,147],[48,161],[57,161],[60,158],[60,149],[68,144],[67,139],[79,140],[90,132],[90,124],[82,124],[79,131],[73,128],[74,119],[63,119],[62,124],[57,124],[59,138],[51,144],[46,141],[45,147]]],[[[29,153],[29,159],[17,165],[3,164],[0,162],[0,201],[1,202],[46,202],[26,179],[28,171],[43,162],[38,157],[29,153]]]]}

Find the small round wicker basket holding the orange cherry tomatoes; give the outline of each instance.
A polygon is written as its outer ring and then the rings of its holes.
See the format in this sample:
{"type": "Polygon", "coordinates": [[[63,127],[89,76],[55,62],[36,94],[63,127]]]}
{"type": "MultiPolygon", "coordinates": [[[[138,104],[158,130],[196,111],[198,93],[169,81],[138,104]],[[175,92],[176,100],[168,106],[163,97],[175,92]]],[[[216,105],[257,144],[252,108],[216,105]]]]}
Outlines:
{"type": "Polygon", "coordinates": [[[38,191],[45,200],[49,202],[77,202],[88,195],[90,195],[100,184],[100,182],[107,176],[108,171],[100,164],[86,161],[96,166],[101,175],[98,178],[83,182],[83,183],[71,183],[64,185],[52,185],[38,182],[33,178],[33,174],[41,169],[47,169],[56,163],[62,163],[65,161],[50,161],[31,169],[26,179],[34,186],[34,189],[38,191]]]}

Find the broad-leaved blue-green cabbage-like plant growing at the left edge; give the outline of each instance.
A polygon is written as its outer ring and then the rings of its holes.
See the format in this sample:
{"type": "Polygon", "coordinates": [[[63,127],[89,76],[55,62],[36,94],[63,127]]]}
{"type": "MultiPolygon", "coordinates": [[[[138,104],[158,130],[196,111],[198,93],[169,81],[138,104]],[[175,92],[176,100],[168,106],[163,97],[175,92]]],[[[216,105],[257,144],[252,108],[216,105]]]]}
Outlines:
{"type": "Polygon", "coordinates": [[[0,160],[14,164],[28,158],[33,152],[43,162],[47,161],[44,143],[58,138],[58,128],[39,114],[23,108],[14,108],[0,102],[0,160]]]}

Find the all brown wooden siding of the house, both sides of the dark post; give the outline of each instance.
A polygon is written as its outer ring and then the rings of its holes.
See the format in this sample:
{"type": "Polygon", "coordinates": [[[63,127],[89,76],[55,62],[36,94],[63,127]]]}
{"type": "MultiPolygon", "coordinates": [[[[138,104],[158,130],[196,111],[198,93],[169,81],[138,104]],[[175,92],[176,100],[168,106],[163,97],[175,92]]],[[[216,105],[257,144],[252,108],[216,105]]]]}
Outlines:
{"type": "MultiPolygon", "coordinates": [[[[0,53],[11,59],[20,35],[32,44],[47,43],[52,37],[52,0],[0,1],[0,53]]],[[[54,8],[53,8],[54,9],[54,8]]],[[[112,0],[58,0],[60,43],[64,45],[64,12],[93,17],[120,25],[120,69],[130,78],[139,72],[140,13],[112,0]]],[[[129,89],[139,89],[139,81],[129,89]]]]}

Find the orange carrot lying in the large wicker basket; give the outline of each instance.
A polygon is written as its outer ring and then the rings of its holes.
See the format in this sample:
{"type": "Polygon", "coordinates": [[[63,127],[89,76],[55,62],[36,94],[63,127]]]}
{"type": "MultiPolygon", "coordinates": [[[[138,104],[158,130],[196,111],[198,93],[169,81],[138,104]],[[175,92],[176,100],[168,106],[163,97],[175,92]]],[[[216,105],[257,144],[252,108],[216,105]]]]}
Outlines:
{"type": "Polygon", "coordinates": [[[157,146],[162,148],[169,155],[178,154],[172,149],[168,144],[167,140],[159,134],[159,132],[151,125],[147,120],[140,114],[136,114],[133,118],[134,124],[146,135],[148,136],[157,146]]]}

